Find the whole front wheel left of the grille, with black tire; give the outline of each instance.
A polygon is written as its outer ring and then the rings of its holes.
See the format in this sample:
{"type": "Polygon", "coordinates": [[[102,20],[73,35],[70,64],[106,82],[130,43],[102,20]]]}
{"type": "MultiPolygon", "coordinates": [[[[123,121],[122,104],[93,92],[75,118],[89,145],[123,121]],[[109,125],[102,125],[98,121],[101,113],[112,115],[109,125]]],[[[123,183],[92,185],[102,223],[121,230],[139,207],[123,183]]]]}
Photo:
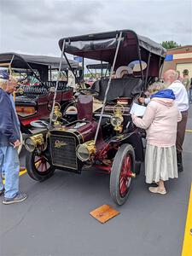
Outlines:
{"type": "Polygon", "coordinates": [[[44,181],[55,172],[50,160],[37,150],[26,153],[26,171],[30,177],[37,181],[44,181]]]}

